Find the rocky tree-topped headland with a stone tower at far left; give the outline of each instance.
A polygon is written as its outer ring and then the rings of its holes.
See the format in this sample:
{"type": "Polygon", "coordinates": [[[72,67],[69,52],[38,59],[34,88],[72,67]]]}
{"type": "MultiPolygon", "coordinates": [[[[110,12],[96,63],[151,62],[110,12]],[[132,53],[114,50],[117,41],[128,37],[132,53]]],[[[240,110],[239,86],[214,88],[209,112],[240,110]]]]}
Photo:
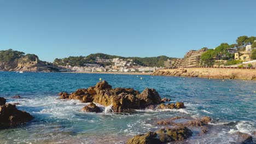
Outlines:
{"type": "Polygon", "coordinates": [[[40,61],[34,54],[14,50],[0,51],[1,71],[55,71],[51,63],[40,61]]]}

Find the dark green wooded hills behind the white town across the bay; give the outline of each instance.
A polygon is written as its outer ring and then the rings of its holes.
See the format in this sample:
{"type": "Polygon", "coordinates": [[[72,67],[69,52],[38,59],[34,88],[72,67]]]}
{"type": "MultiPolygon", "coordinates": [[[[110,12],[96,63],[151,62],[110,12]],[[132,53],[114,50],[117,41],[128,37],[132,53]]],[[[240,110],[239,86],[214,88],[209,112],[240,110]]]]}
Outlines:
{"type": "Polygon", "coordinates": [[[113,58],[121,58],[124,61],[127,59],[132,59],[135,65],[142,65],[148,67],[164,67],[164,61],[168,58],[172,59],[171,57],[167,56],[158,56],[158,57],[122,57],[122,56],[114,56],[114,55],[107,55],[104,53],[95,53],[90,54],[88,56],[79,56],[79,57],[67,57],[67,58],[56,58],[54,60],[55,65],[71,65],[71,66],[84,66],[86,63],[90,64],[101,64],[103,67],[105,65],[112,65],[112,62],[97,62],[96,59],[113,59],[113,58]]]}

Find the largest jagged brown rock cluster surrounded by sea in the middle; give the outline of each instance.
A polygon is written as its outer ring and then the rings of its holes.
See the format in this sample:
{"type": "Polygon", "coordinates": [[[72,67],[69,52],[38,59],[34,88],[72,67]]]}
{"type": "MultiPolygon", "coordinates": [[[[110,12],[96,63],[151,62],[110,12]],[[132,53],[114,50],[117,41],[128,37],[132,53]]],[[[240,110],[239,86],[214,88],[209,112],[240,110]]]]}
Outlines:
{"type": "Polygon", "coordinates": [[[161,98],[155,89],[146,88],[142,93],[133,88],[112,88],[107,81],[101,81],[94,87],[81,88],[68,95],[59,93],[60,98],[80,100],[83,103],[97,103],[103,106],[112,105],[114,112],[129,112],[144,109],[149,105],[158,105],[161,98]]]}

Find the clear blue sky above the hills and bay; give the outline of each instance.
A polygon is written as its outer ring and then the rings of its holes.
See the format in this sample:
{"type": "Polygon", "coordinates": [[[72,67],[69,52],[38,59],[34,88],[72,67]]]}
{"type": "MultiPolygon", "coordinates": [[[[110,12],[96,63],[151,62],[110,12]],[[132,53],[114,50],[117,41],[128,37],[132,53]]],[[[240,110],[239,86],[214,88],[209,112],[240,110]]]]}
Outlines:
{"type": "Polygon", "coordinates": [[[0,0],[0,50],[183,57],[256,36],[255,0],[0,0]]]}

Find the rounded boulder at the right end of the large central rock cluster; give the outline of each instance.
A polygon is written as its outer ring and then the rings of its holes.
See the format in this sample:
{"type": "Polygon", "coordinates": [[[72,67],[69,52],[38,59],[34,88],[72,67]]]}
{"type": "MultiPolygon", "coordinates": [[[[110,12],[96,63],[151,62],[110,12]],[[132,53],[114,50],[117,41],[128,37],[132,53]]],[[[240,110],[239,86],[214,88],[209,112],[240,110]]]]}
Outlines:
{"type": "Polygon", "coordinates": [[[138,94],[136,97],[141,100],[141,107],[161,103],[161,98],[154,88],[146,88],[141,94],[138,94]]]}

